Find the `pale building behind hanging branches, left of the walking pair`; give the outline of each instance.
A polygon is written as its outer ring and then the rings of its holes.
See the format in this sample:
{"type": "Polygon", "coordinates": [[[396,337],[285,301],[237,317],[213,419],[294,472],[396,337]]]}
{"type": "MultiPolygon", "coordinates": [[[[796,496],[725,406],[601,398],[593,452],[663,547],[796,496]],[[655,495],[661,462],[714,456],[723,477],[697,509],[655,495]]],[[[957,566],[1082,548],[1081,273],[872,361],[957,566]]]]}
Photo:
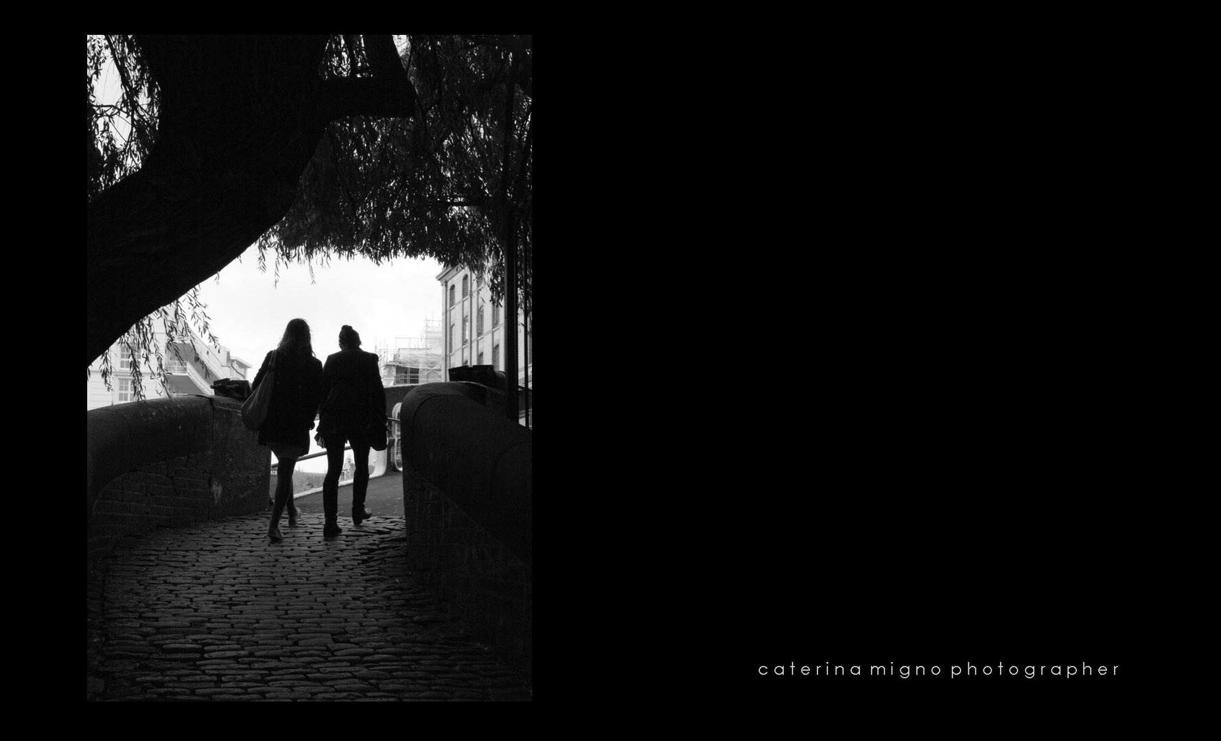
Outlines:
{"type": "Polygon", "coordinates": [[[140,385],[145,399],[186,394],[212,396],[212,382],[217,378],[247,378],[250,364],[231,354],[228,348],[221,347],[220,352],[216,352],[193,332],[192,341],[195,343],[194,349],[188,342],[168,342],[168,337],[164,332],[156,333],[155,343],[161,350],[165,364],[165,383],[153,377],[156,371],[156,353],[151,348],[149,363],[144,363],[142,358],[133,359],[127,348],[121,348],[118,343],[115,343],[106,350],[110,354],[110,367],[114,371],[110,378],[110,391],[106,389],[106,383],[101,378],[101,358],[99,356],[89,366],[88,408],[96,409],[136,400],[131,371],[133,360],[139,364],[140,385]],[[175,353],[176,348],[177,353],[175,353]],[[153,367],[150,369],[149,365],[153,367]]]}

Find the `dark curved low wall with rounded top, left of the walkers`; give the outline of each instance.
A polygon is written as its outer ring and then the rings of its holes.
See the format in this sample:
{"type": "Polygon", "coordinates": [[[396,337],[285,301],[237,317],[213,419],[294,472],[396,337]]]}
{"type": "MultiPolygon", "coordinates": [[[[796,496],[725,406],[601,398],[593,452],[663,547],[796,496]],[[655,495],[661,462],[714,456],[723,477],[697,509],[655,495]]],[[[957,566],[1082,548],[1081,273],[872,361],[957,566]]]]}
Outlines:
{"type": "Polygon", "coordinates": [[[271,453],[241,409],[193,396],[87,413],[90,571],[127,536],[266,509],[271,453]]]}

